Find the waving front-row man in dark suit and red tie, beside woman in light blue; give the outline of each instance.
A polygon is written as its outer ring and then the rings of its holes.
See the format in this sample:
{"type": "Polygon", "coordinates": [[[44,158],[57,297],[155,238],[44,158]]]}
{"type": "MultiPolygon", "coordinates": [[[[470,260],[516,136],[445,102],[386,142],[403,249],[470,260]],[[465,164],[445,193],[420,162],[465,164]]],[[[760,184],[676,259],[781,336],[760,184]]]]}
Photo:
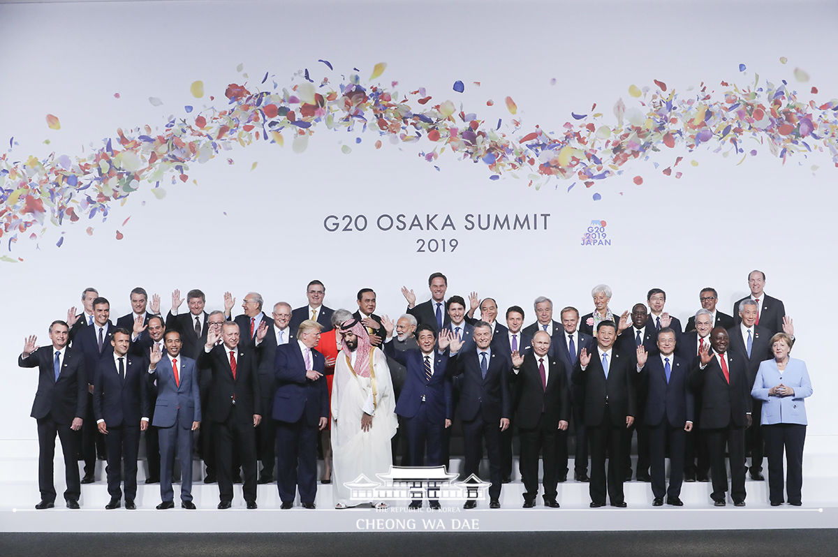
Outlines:
{"type": "Polygon", "coordinates": [[[698,423],[706,434],[713,482],[711,498],[725,506],[727,470],[725,442],[731,467],[731,498],[745,506],[745,428],[751,425],[751,393],[745,358],[728,353],[730,340],[722,327],[710,333],[710,347],[699,354],[690,371],[690,386],[701,394],[698,423]],[[710,348],[712,347],[712,352],[710,348]]]}

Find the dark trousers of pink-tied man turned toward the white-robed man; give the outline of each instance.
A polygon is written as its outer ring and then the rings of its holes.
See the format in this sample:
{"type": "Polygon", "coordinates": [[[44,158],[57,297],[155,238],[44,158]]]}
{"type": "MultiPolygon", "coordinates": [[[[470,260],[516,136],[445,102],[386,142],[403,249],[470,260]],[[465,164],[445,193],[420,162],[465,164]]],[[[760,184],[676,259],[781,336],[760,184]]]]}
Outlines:
{"type": "Polygon", "coordinates": [[[314,503],[317,496],[317,425],[308,425],[303,414],[288,423],[277,421],[277,489],[282,503],[293,503],[297,487],[300,503],[314,503]]]}

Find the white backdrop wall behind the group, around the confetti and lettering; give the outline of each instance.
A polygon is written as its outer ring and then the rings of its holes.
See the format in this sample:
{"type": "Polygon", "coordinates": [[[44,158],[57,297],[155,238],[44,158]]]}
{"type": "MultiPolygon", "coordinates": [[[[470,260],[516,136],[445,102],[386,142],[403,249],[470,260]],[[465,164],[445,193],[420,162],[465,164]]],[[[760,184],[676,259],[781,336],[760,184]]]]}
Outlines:
{"type": "MultiPolygon", "coordinates": [[[[229,84],[246,83],[256,92],[274,91],[276,82],[281,93],[303,82],[295,74],[305,69],[315,85],[328,77],[325,89],[357,73],[364,84],[398,90],[415,111],[453,101],[456,113],[476,113],[485,129],[501,119],[500,132],[516,140],[535,126],[555,137],[566,122],[578,125],[572,112],[601,111],[597,127],[616,126],[614,104],[622,99],[645,113],[640,103],[648,96],[635,98],[629,88],[654,89],[653,80],[683,99],[700,96],[701,87],[717,97],[729,88],[722,81],[743,90],[787,80],[799,101],[819,106],[838,94],[836,16],[838,5],[828,1],[3,4],[0,169],[52,152],[84,158],[103,138],[118,147],[117,128],[148,125],[162,133],[170,117],[191,122],[210,107],[224,110],[229,84]],[[368,79],[381,62],[384,72],[368,79]],[[201,98],[190,92],[196,80],[204,84],[201,98]],[[453,90],[457,80],[462,93],[453,90]],[[424,93],[411,95],[421,87],[424,93]],[[416,103],[422,95],[432,96],[424,108],[416,103]],[[60,129],[48,126],[48,114],[59,118],[60,129]],[[514,120],[520,122],[515,132],[514,120]]],[[[747,137],[742,147],[757,153],[740,163],[732,147],[714,152],[719,142],[692,152],[677,143],[626,162],[622,174],[592,188],[579,179],[542,177],[536,189],[528,185],[531,170],[490,180],[484,162],[462,160],[451,149],[427,162],[420,153],[434,145],[425,137],[394,143],[360,125],[353,132],[312,129],[303,152],[293,152],[286,130],[284,147],[254,142],[191,163],[185,183],[163,178],[163,199],[151,193],[153,183],[142,182],[124,204],[111,202],[104,222],[83,216],[59,227],[47,218],[32,229],[37,240],[21,234],[11,245],[4,230],[3,254],[23,260],[0,262],[8,394],[0,439],[35,438],[28,412],[37,377],[18,369],[15,358],[25,335],[48,342],[49,322],[78,306],[85,286],[111,300],[116,319],[130,311],[133,286],[159,293],[163,312],[173,288],[193,287],[207,293],[209,310],[221,307],[227,290],[237,306],[247,291],[259,291],[268,305],[285,300],[298,307],[308,281],[318,278],[327,286],[328,307],[354,309],[355,292],[371,286],[378,312],[395,317],[405,307],[402,284],[422,301],[427,276],[442,271],[449,294],[476,290],[495,297],[501,312],[520,304],[527,322],[538,295],[551,297],[556,308],[591,311],[589,292],[600,282],[613,287],[615,312],[644,302],[646,291],[660,286],[667,309],[686,322],[703,286],[715,286],[720,309],[731,312],[747,293],[753,268],[765,271],[766,291],[794,317],[793,355],[809,364],[815,387],[807,401],[810,435],[838,433],[824,395],[838,388],[826,348],[832,341],[815,330],[836,274],[829,246],[838,171],[829,152],[795,152],[783,163],[747,137]],[[378,139],[383,144],[376,149],[378,139]],[[665,176],[677,156],[683,161],[665,176]],[[634,183],[635,176],[643,183],[634,183]],[[363,214],[370,225],[329,232],[323,220],[330,214],[363,214]],[[408,222],[413,214],[422,220],[440,214],[438,224],[450,214],[456,230],[384,232],[375,230],[380,214],[406,214],[408,222]],[[468,231],[466,214],[550,217],[546,230],[468,231]],[[608,223],[611,245],[580,245],[592,220],[608,223]],[[458,240],[457,249],[416,252],[417,240],[443,239],[458,240]],[[810,281],[821,287],[810,288],[810,281]]],[[[835,126],[821,130],[834,142],[835,126]]],[[[0,209],[10,183],[7,177],[0,209]]],[[[10,222],[8,214],[0,216],[10,222]]]]}

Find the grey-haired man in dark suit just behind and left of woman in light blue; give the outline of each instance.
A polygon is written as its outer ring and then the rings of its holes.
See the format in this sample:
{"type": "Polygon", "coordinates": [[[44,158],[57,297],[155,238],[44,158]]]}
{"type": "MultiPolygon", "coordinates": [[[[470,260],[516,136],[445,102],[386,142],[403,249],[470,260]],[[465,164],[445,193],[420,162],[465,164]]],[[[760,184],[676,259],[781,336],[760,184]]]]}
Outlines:
{"type": "MultiPolygon", "coordinates": [[[[727,330],[730,338],[730,352],[736,353],[745,360],[747,368],[747,385],[753,386],[757,378],[759,364],[766,359],[773,358],[771,352],[772,334],[766,327],[757,325],[757,302],[745,298],[739,302],[739,324],[727,330]]],[[[794,329],[793,329],[794,330],[794,329]]],[[[763,481],[763,455],[765,444],[763,431],[760,427],[763,403],[761,400],[751,400],[751,416],[753,424],[745,431],[745,452],[751,453],[751,479],[763,481]]]]}

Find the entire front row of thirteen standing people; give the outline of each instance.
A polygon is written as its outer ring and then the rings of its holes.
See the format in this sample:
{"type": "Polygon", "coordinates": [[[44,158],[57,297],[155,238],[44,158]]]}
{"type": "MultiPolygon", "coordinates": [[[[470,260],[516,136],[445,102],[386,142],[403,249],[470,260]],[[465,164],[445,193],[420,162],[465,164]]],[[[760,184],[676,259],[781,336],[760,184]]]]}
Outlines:
{"type": "MultiPolygon", "coordinates": [[[[405,317],[405,316],[402,316],[405,317]]],[[[409,316],[408,316],[409,317],[409,316]]],[[[386,337],[395,324],[382,319],[386,337]]],[[[220,489],[218,508],[230,508],[233,496],[234,455],[244,470],[243,493],[247,508],[256,508],[256,425],[262,419],[258,353],[266,337],[266,324],[257,327],[251,343],[239,343],[240,328],[223,322],[209,330],[197,361],[181,354],[180,333],[168,331],[145,351],[132,350],[132,333],[116,328],[110,336],[112,358],[102,358],[92,384],[96,426],[106,436],[107,484],[111,501],[106,508],[136,508],[137,451],[140,431],[158,428],[162,502],[173,508],[172,470],[175,458],[182,472],[181,507],[194,509],[191,495],[193,432],[206,415],[215,441],[216,472],[220,489]],[[220,329],[220,330],[218,330],[220,329]],[[159,341],[163,340],[163,343],[159,341]],[[162,346],[161,346],[162,344],[162,346]],[[209,394],[202,408],[199,369],[209,373],[209,394]],[[151,408],[147,389],[157,392],[151,408]],[[153,418],[150,418],[153,416],[153,418]],[[235,448],[234,448],[235,447],[235,448]],[[125,462],[122,477],[122,462],[125,462]],[[122,483],[124,482],[124,493],[122,483]]],[[[79,470],[75,462],[77,431],[87,405],[87,370],[80,353],[68,348],[69,327],[55,321],[49,327],[50,345],[38,348],[26,338],[18,359],[21,367],[38,367],[39,388],[32,416],[38,420],[39,490],[36,508],[54,507],[54,439],[65,455],[68,508],[78,508],[79,470]]],[[[323,355],[314,347],[320,325],[304,321],[295,343],[277,347],[272,419],[277,422],[279,464],[277,488],[282,508],[291,508],[299,489],[304,508],[314,508],[317,489],[316,438],[328,423],[328,391],[323,376],[323,355]]],[[[591,450],[590,496],[592,508],[608,502],[626,507],[623,496],[626,436],[634,417],[642,415],[649,436],[654,506],[680,506],[684,477],[685,433],[697,424],[708,446],[712,493],[716,506],[727,499],[725,448],[732,474],[731,498],[745,501],[744,432],[752,424],[752,400],[762,401],[762,420],[768,450],[769,502],[784,503],[783,453],[788,460],[788,502],[801,503],[802,458],[805,438],[804,398],[812,394],[804,362],[789,358],[792,340],[786,333],[771,339],[773,359],[759,365],[748,384],[746,363],[728,353],[723,327],[712,329],[710,346],[699,349],[694,362],[675,354],[675,332],[663,327],[657,350],[643,344],[635,354],[614,349],[617,324],[602,321],[590,346],[582,348],[572,370],[551,350],[551,336],[535,333],[531,343],[504,352],[505,339],[493,342],[492,327],[476,322],[465,339],[447,329],[437,337],[433,327],[416,327],[416,348],[399,348],[403,335],[385,343],[383,353],[370,343],[370,334],[357,319],[341,324],[342,351],[336,363],[331,400],[334,431],[337,508],[350,502],[343,485],[360,474],[375,477],[391,465],[391,437],[396,415],[401,418],[408,446],[408,465],[443,464],[445,430],[453,420],[452,383],[458,377],[458,411],[463,420],[466,477],[478,472],[483,445],[489,456],[489,507],[500,507],[500,435],[515,423],[520,431],[520,472],[524,507],[535,506],[539,456],[543,462],[543,498],[546,507],[558,508],[556,483],[558,447],[566,444],[571,420],[571,388],[582,400],[581,420],[591,450]],[[406,368],[401,395],[394,400],[385,355],[406,368]],[[642,394],[642,396],[638,396],[642,394]],[[753,397],[753,399],[752,399],[753,397]],[[641,402],[642,401],[642,402],[641,402]],[[639,409],[638,405],[644,405],[639,409]],[[642,411],[639,411],[642,410],[642,411]],[[665,485],[666,447],[670,454],[670,484],[665,485]],[[427,454],[427,459],[426,459],[427,454]],[[605,461],[608,459],[608,473],[605,461]],[[343,482],[343,483],[342,483],[343,482]]],[[[100,348],[101,349],[101,348],[100,348]]],[[[201,383],[204,383],[202,379],[201,383]]],[[[204,424],[204,427],[206,425],[204,424]]],[[[235,462],[235,463],[234,463],[235,462]]],[[[373,502],[376,506],[384,503],[373,502]]],[[[432,500],[431,508],[439,508],[432,500]]],[[[414,500],[411,508],[422,506],[414,500]]],[[[465,508],[477,506],[468,499],[465,508]]]]}

